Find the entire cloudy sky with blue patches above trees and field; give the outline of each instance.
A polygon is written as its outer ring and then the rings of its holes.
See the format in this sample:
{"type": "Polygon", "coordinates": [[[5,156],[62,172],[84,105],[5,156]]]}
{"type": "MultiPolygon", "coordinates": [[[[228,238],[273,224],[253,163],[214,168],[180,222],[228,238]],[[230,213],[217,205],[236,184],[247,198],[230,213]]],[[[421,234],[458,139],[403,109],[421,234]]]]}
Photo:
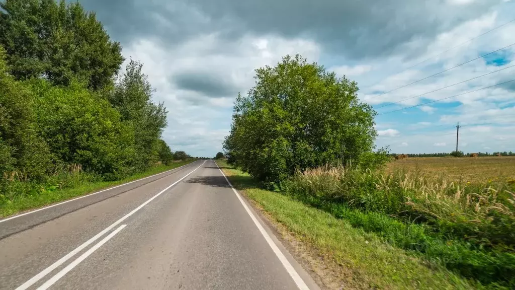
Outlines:
{"type": "Polygon", "coordinates": [[[173,151],[222,151],[238,92],[287,54],[356,80],[377,148],[451,152],[459,122],[459,150],[515,151],[515,1],[79,2],[143,62],[173,151]]]}

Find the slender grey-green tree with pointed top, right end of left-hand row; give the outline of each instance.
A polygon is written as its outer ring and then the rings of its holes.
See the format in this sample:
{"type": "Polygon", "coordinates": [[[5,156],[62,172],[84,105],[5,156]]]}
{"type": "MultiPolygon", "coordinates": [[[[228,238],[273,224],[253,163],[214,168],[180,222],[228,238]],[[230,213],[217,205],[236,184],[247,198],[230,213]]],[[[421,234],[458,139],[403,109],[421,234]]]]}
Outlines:
{"type": "Polygon", "coordinates": [[[136,167],[143,169],[159,159],[161,134],[166,127],[166,108],[163,103],[152,102],[153,89],[147,76],[142,72],[143,65],[130,60],[126,71],[121,75],[107,99],[122,115],[122,120],[134,130],[135,147],[138,151],[136,167]]]}

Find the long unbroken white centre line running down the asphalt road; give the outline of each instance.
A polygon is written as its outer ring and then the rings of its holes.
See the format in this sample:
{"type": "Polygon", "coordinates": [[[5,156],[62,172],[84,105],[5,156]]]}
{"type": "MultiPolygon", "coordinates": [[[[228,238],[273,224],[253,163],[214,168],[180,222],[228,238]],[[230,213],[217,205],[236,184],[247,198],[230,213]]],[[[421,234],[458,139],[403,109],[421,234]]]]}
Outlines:
{"type": "MultiPolygon", "coordinates": [[[[205,161],[200,165],[204,165],[205,161]]],[[[128,217],[130,217],[131,215],[133,215],[135,212],[141,210],[141,208],[145,205],[147,205],[149,202],[151,202],[152,200],[154,200],[155,198],[157,198],[158,196],[160,196],[163,192],[165,192],[166,190],[168,190],[170,187],[176,185],[177,183],[179,183],[180,181],[182,181],[183,179],[186,178],[186,176],[192,174],[195,170],[199,169],[200,168],[197,167],[195,169],[193,169],[190,173],[184,175],[181,179],[179,179],[178,181],[172,183],[171,185],[169,185],[168,187],[166,187],[165,189],[161,190],[157,195],[151,197],[149,200],[145,201],[144,203],[142,203],[140,206],[134,208],[134,210],[132,210],[132,212],[126,214],[125,216],[123,216],[121,219],[115,221],[113,224],[111,224],[109,227],[107,227],[106,229],[104,229],[103,231],[99,232],[98,234],[96,234],[94,237],[90,238],[89,240],[85,241],[84,244],[78,246],[75,250],[71,251],[70,253],[68,253],[67,255],[65,255],[64,257],[62,257],[61,259],[59,259],[57,262],[55,262],[54,264],[48,266],[48,268],[44,269],[43,271],[41,271],[40,273],[38,273],[36,276],[32,277],[30,280],[28,280],[27,282],[23,283],[21,286],[19,286],[18,288],[16,288],[16,290],[25,290],[27,289],[28,287],[30,287],[32,284],[38,282],[41,278],[45,277],[46,275],[48,275],[48,273],[52,272],[54,269],[56,269],[57,267],[61,266],[64,262],[66,262],[68,259],[70,259],[71,257],[73,257],[75,254],[77,254],[78,252],[82,251],[85,247],[88,247],[90,244],[92,244],[95,240],[97,240],[99,237],[103,236],[104,234],[106,234],[107,232],[109,232],[110,230],[112,230],[114,227],[116,227],[116,225],[120,224],[122,221],[126,220],[128,217]]]]}

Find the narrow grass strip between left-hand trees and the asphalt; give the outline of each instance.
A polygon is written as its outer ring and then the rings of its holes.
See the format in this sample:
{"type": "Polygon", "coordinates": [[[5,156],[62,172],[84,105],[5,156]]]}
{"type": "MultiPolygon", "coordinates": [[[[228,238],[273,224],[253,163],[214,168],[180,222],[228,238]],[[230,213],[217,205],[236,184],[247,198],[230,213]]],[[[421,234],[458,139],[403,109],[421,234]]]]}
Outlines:
{"type": "Polygon", "coordinates": [[[128,178],[117,181],[100,181],[100,182],[84,182],[74,187],[56,189],[54,191],[45,190],[37,195],[23,195],[14,198],[13,200],[5,200],[0,203],[0,218],[14,215],[23,211],[31,210],[33,208],[42,207],[52,203],[64,201],[74,197],[82,196],[95,192],[98,190],[106,189],[108,187],[124,184],[147,176],[161,173],[170,169],[192,163],[195,160],[186,160],[175,162],[171,165],[159,165],[149,168],[146,171],[136,173],[128,178]]]}

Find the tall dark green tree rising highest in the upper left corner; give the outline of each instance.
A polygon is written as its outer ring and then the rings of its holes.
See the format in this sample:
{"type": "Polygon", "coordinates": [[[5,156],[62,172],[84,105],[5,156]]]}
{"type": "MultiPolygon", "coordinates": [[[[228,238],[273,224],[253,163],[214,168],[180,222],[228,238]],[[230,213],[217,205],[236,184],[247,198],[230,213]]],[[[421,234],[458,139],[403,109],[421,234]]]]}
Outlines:
{"type": "Polygon", "coordinates": [[[16,79],[67,86],[78,78],[94,90],[112,83],[124,61],[122,47],[95,13],[64,0],[5,0],[0,7],[0,44],[16,79]]]}

